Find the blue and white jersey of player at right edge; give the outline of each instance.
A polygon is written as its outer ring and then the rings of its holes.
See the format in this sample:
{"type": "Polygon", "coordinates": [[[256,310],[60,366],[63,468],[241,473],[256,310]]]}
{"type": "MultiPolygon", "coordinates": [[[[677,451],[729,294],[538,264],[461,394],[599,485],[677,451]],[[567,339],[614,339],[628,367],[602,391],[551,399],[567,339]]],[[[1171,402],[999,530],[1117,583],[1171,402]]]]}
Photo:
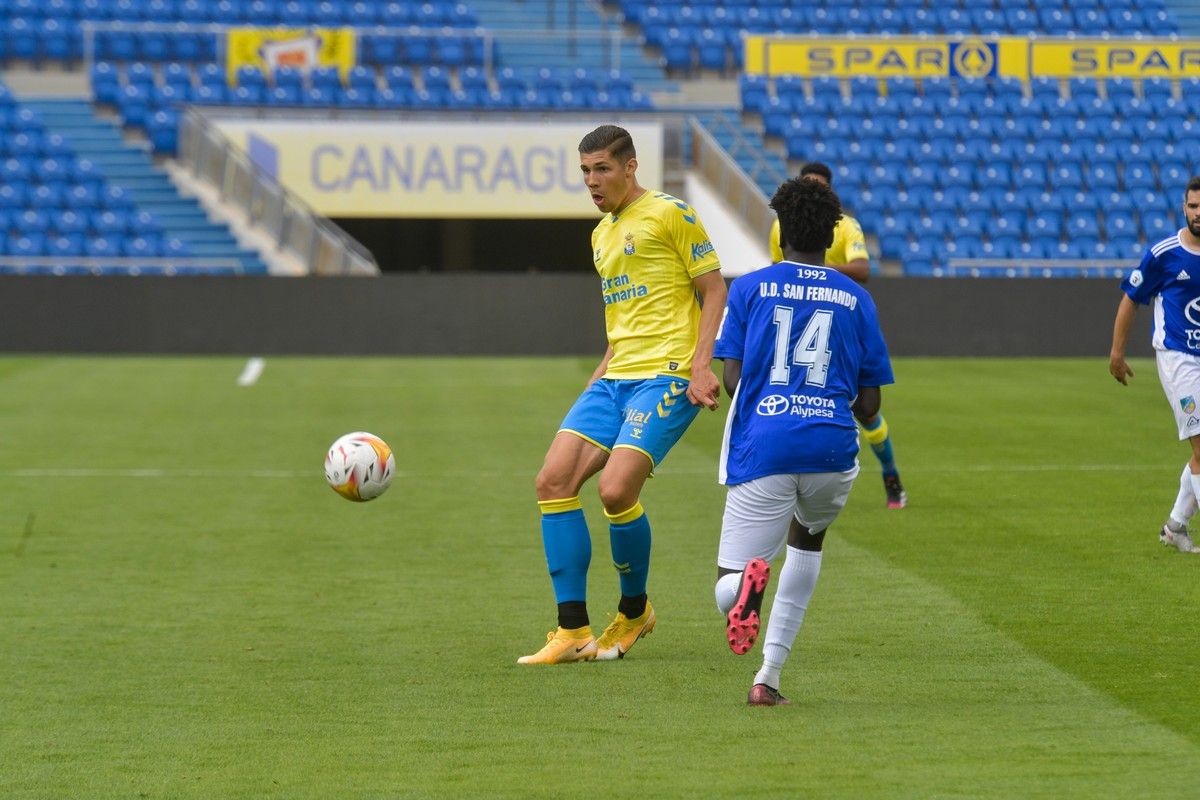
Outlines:
{"type": "Polygon", "coordinates": [[[1200,253],[1188,249],[1178,233],[1147,249],[1121,290],[1136,303],[1153,301],[1156,350],[1200,355],[1200,253]]]}

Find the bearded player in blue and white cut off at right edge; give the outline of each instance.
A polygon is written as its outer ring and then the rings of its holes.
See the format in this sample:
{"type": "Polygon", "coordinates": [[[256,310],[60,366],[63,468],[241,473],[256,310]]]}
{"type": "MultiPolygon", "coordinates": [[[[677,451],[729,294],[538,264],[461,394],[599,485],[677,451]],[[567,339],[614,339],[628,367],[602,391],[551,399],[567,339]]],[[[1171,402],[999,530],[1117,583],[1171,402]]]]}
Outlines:
{"type": "Polygon", "coordinates": [[[1192,543],[1188,523],[1200,500],[1200,176],[1188,181],[1183,193],[1184,228],[1152,245],[1136,270],[1121,282],[1121,305],[1112,325],[1109,373],[1128,385],[1133,369],[1126,363],[1126,343],[1138,306],[1154,303],[1151,338],[1180,439],[1192,445],[1192,457],[1180,474],[1175,505],[1158,541],[1184,553],[1200,553],[1192,543]]]}

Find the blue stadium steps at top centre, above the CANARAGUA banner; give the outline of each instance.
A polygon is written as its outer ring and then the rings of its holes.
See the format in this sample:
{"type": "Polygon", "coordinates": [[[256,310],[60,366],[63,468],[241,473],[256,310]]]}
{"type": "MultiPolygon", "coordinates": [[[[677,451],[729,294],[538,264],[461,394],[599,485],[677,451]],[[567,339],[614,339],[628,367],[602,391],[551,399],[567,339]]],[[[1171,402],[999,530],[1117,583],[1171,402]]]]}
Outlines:
{"type": "Polygon", "coordinates": [[[647,58],[638,41],[623,36],[619,22],[602,18],[592,4],[577,0],[535,4],[470,0],[470,7],[480,24],[497,35],[499,66],[528,71],[551,67],[564,72],[575,67],[619,67],[642,91],[673,91],[678,88],[667,79],[658,62],[647,58]],[[541,31],[546,35],[506,38],[516,31],[541,31]],[[582,36],[572,40],[572,31],[582,36]],[[604,34],[620,37],[616,56],[604,34]]]}

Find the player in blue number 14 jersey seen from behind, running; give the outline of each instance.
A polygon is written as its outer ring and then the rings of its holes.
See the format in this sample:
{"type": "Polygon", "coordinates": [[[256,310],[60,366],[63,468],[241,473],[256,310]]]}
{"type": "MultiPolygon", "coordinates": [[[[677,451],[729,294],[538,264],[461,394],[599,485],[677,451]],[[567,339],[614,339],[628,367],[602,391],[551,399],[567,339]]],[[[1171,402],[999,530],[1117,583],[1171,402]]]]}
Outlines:
{"type": "Polygon", "coordinates": [[[818,181],[793,179],[770,200],[786,260],[730,287],[714,356],[733,396],[721,446],[728,487],[716,557],[716,606],[733,652],[758,633],[769,561],[787,546],[748,703],[780,705],[779,678],[821,571],[826,530],[858,475],[854,415],[880,410],[893,383],[875,302],[822,266],[841,203],[818,181]]]}

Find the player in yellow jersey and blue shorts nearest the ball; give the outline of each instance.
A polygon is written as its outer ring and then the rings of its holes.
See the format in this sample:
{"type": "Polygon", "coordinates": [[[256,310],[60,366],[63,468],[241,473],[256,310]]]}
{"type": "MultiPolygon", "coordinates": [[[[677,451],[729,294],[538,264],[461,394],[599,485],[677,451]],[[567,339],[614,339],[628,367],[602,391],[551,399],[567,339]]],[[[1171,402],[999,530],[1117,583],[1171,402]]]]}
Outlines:
{"type": "Polygon", "coordinates": [[[580,168],[604,218],[592,233],[608,349],[568,411],[538,473],[542,546],[558,602],[558,628],[522,664],[622,658],[654,630],[646,595],[650,522],[642,485],[700,407],[716,409],[713,341],[725,279],[696,212],[637,182],[629,132],[602,125],[580,142],[580,168]],[[617,616],[599,639],[587,609],[592,539],[580,488],[600,474],[612,563],[620,581],[617,616]]]}

